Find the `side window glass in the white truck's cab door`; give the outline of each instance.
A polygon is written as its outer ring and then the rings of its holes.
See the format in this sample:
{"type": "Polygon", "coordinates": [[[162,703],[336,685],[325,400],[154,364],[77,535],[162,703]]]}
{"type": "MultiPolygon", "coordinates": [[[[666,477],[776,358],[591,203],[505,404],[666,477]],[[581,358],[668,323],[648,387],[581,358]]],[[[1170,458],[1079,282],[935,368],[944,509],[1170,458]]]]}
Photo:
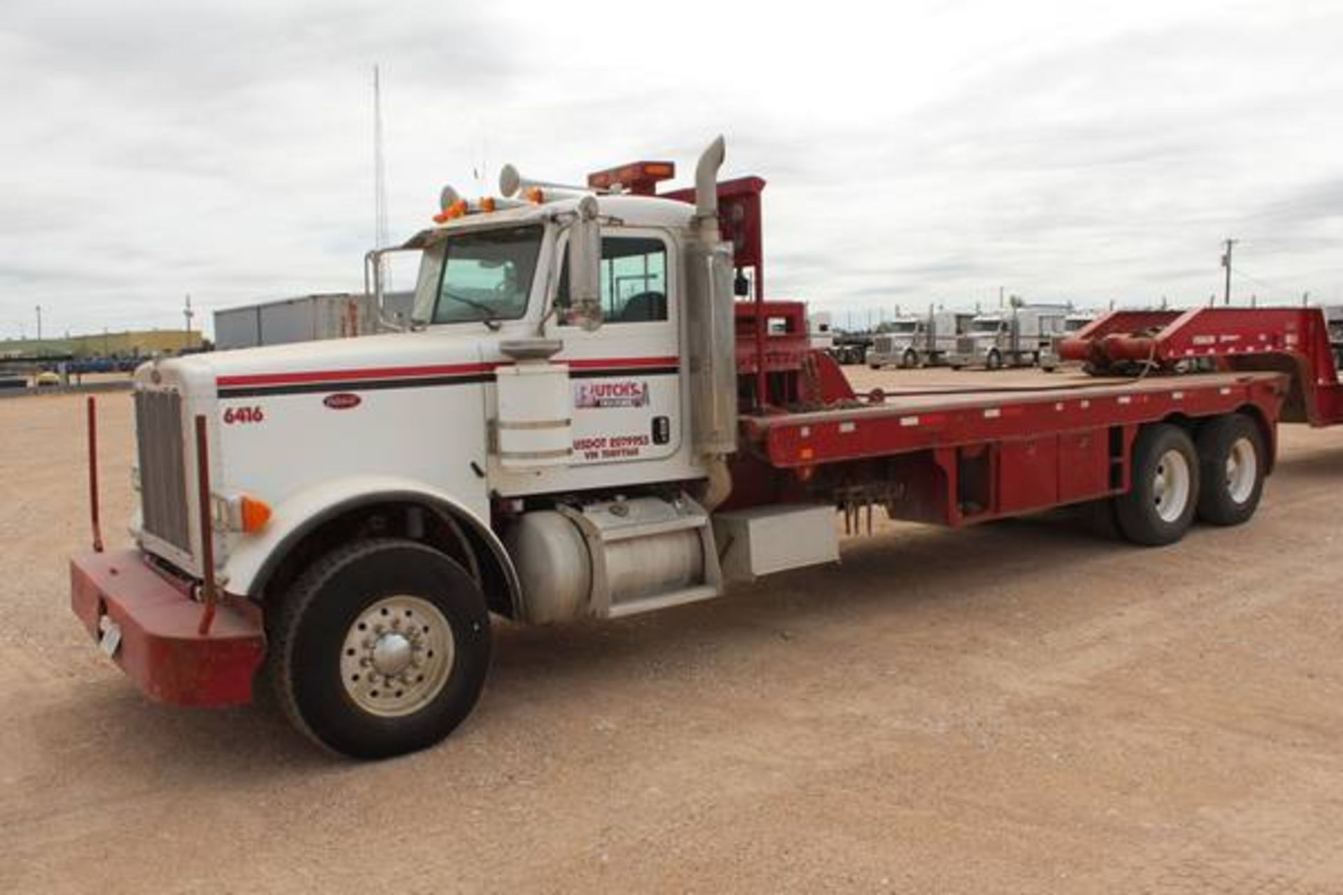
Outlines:
{"type": "MultiPolygon", "coordinates": [[[[569,264],[555,293],[560,325],[568,325],[569,264]]],[[[667,318],[667,250],[649,236],[602,239],[602,315],[606,323],[647,323],[667,318]]]]}

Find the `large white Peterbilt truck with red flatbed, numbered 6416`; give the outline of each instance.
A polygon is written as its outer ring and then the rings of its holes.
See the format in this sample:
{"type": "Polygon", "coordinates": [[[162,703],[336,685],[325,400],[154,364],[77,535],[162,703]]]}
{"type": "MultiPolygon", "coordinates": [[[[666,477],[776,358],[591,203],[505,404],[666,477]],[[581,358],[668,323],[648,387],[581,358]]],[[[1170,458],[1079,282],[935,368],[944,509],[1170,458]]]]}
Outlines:
{"type": "Polygon", "coordinates": [[[505,168],[502,199],[445,191],[407,243],[412,331],[138,369],[134,545],[102,547],[94,499],[71,560],[91,637],[172,704],[248,702],[265,668],[297,729],[384,757],[467,717],[492,617],[627,616],[833,564],[837,513],[1101,502],[1143,545],[1254,513],[1285,373],[857,393],[804,306],[766,301],[764,181],[719,182],[723,158],[720,138],[663,195],[670,162],[576,188],[505,168]]]}

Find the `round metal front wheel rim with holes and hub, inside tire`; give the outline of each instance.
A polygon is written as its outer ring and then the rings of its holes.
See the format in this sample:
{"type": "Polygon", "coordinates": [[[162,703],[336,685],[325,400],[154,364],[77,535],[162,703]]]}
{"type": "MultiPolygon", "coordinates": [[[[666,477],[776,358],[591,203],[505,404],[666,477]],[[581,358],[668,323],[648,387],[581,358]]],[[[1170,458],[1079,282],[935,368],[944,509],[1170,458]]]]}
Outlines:
{"type": "Polygon", "coordinates": [[[438,607],[420,597],[384,597],[345,632],[341,683],[363,711],[402,718],[438,696],[455,655],[453,627],[438,607]]]}

